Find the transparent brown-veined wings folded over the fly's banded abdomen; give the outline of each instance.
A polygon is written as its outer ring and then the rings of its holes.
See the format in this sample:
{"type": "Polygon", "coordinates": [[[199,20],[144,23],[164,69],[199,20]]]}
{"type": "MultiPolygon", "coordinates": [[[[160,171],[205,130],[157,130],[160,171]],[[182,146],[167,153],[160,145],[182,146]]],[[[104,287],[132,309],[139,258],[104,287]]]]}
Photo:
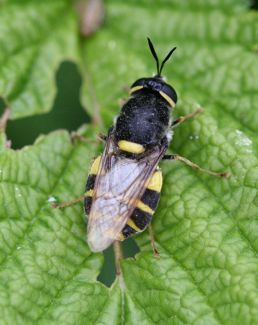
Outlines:
{"type": "Polygon", "coordinates": [[[103,251],[117,238],[165,151],[161,146],[140,160],[125,158],[117,155],[112,133],[108,136],[88,215],[88,244],[93,252],[103,251]]]}

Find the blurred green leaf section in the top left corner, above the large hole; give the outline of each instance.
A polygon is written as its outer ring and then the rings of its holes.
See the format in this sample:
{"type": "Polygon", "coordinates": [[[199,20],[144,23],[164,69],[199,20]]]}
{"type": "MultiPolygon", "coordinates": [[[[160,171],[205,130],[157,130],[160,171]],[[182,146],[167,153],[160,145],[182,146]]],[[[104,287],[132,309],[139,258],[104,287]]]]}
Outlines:
{"type": "Polygon", "coordinates": [[[46,113],[53,105],[60,62],[78,59],[71,1],[8,1],[1,6],[0,95],[13,119],[46,113]]]}

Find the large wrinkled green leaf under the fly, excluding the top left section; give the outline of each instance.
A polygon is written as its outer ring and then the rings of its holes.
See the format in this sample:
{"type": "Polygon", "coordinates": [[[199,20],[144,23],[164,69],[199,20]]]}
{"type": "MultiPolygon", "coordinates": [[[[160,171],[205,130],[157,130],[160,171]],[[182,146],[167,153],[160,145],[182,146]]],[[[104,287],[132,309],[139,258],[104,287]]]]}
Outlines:
{"type": "MultiPolygon", "coordinates": [[[[175,129],[169,150],[230,177],[162,162],[152,222],[162,258],[154,258],[145,230],[134,237],[141,253],[120,263],[122,273],[108,289],[96,281],[103,257],[86,243],[82,204],[52,210],[46,202],[81,196],[101,147],[72,146],[58,131],[32,147],[6,150],[0,156],[0,322],[256,325],[258,14],[244,0],[110,0],[106,8],[104,27],[80,43],[88,111],[100,108],[110,126],[117,98],[126,96],[123,83],[152,75],[147,36],[160,59],[177,46],[164,67],[179,98],[173,114],[190,113],[196,104],[204,113],[175,129]]],[[[97,130],[80,132],[92,137],[97,130]]]]}

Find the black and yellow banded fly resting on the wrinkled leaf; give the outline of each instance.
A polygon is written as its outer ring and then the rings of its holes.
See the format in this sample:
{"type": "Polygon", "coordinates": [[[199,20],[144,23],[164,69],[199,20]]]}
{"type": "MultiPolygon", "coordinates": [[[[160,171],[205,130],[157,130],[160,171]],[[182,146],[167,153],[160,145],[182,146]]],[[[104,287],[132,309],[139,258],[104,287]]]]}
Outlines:
{"type": "MultiPolygon", "coordinates": [[[[165,155],[172,139],[172,128],[202,111],[202,108],[172,122],[171,110],[175,107],[177,95],[173,87],[164,81],[161,71],[176,47],[159,69],[149,38],[148,42],[156,60],[157,74],[138,79],[131,86],[131,97],[123,105],[107,136],[97,134],[105,141],[105,148],[102,155],[91,162],[82,197],[88,215],[88,245],[93,252],[100,252],[114,240],[124,240],[149,226],[154,253],[156,257],[160,256],[150,222],[162,187],[162,172],[158,167],[162,159],[180,159],[210,175],[229,175],[203,170],[177,154],[165,155]]],[[[61,207],[78,200],[53,206],[61,207]]]]}

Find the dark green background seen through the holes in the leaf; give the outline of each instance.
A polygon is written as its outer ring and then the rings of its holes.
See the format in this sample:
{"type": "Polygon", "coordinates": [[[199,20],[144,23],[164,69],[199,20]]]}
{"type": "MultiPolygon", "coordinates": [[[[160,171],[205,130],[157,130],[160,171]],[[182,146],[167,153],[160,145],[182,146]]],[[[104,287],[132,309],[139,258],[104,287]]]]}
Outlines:
{"type": "MultiPolygon", "coordinates": [[[[253,1],[252,8],[258,9],[258,0],[253,1]]],[[[49,113],[8,121],[6,133],[7,138],[12,141],[13,149],[20,149],[25,145],[33,144],[39,134],[47,134],[60,128],[71,132],[82,123],[90,122],[90,118],[79,100],[82,80],[75,63],[70,61],[61,63],[56,74],[56,83],[58,92],[53,109],[49,113]]],[[[1,114],[3,110],[4,103],[0,98],[1,114]]],[[[139,248],[132,238],[123,242],[123,249],[125,257],[134,257],[139,252],[139,248]]],[[[116,274],[112,247],[104,252],[104,257],[104,266],[98,280],[110,286],[116,274]]]]}

